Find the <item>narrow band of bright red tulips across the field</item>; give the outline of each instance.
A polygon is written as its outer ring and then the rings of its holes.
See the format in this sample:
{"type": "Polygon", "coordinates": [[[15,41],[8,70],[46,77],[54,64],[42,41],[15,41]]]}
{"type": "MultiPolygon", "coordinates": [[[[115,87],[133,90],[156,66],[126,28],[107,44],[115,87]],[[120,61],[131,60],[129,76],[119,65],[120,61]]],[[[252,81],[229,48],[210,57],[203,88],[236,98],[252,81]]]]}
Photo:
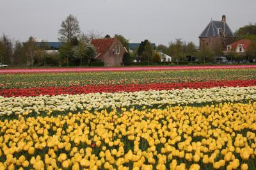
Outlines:
{"type": "Polygon", "coordinates": [[[118,91],[148,91],[154,90],[172,90],[183,88],[214,88],[214,87],[247,87],[256,86],[256,80],[236,80],[236,81],[208,81],[208,82],[175,82],[175,83],[152,83],[152,84],[118,84],[118,85],[85,85],[70,87],[44,87],[44,88],[11,88],[0,89],[0,95],[3,97],[29,97],[39,95],[61,95],[61,94],[82,94],[82,93],[114,93],[118,91]]]}

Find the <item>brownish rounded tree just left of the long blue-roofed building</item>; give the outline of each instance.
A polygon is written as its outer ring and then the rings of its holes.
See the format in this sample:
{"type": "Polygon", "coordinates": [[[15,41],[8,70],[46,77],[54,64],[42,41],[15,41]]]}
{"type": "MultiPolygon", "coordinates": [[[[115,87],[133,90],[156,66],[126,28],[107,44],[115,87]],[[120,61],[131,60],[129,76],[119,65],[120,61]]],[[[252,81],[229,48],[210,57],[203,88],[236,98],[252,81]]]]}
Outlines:
{"type": "Polygon", "coordinates": [[[35,66],[35,61],[38,58],[38,47],[36,47],[35,38],[30,36],[28,41],[24,43],[24,48],[27,57],[27,66],[35,66]]]}

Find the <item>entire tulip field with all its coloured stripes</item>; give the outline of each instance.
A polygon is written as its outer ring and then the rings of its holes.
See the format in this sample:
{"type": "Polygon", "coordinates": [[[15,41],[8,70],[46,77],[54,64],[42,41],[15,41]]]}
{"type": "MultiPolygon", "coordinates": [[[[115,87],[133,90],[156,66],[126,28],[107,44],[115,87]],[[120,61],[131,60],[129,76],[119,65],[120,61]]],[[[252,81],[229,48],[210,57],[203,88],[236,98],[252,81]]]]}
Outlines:
{"type": "Polygon", "coordinates": [[[2,169],[256,169],[256,66],[0,69],[2,169]]]}

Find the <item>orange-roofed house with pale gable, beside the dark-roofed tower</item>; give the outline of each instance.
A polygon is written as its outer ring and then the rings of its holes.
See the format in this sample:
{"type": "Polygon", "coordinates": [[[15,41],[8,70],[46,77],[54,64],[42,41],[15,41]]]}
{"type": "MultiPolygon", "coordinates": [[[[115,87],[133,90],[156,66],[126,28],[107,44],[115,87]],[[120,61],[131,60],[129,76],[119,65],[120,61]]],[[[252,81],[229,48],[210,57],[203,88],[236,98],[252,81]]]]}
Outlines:
{"type": "Polygon", "coordinates": [[[223,50],[223,54],[237,53],[237,54],[246,54],[250,51],[250,46],[252,44],[251,40],[241,39],[236,42],[226,45],[223,50]]]}

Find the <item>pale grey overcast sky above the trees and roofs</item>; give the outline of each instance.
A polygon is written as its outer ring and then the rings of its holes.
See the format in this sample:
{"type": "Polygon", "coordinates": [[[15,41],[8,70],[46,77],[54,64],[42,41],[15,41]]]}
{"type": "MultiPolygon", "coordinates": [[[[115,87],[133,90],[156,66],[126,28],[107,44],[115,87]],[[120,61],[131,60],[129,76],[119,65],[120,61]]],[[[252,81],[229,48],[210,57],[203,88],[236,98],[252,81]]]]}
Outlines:
{"type": "Polygon", "coordinates": [[[157,45],[182,38],[198,45],[211,19],[225,14],[236,31],[256,22],[255,6],[255,0],[0,0],[0,33],[20,41],[34,36],[56,42],[61,21],[72,14],[84,33],[93,29],[157,45]]]}

